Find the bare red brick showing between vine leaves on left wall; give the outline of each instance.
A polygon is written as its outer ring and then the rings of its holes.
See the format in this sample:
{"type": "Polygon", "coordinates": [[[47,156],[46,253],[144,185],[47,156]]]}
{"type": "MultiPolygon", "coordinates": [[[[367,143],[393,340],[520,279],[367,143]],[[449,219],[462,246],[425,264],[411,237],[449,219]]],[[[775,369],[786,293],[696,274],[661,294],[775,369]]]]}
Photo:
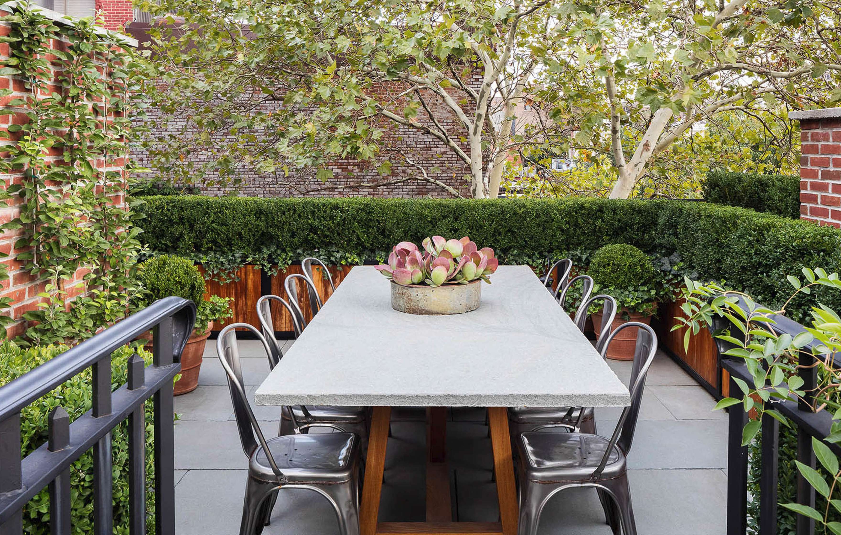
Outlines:
{"type": "MultiPolygon", "coordinates": [[[[6,14],[8,13],[0,10],[0,16],[6,14]]],[[[60,13],[51,14],[55,16],[58,24],[68,24],[66,21],[61,19],[60,13]]],[[[6,36],[8,34],[8,25],[0,24],[0,35],[6,36]]],[[[52,45],[55,50],[66,50],[64,43],[61,41],[54,41],[52,45]]],[[[8,56],[9,44],[0,43],[0,59],[8,59],[8,56]]],[[[55,70],[53,71],[53,79],[56,77],[56,72],[57,71],[55,70]]],[[[28,116],[24,114],[24,109],[12,108],[8,105],[8,103],[15,98],[22,98],[31,93],[29,88],[24,85],[24,81],[21,78],[8,75],[0,76],[0,88],[11,88],[13,90],[11,95],[0,98],[0,108],[11,109],[15,112],[11,115],[0,115],[0,130],[3,130],[8,134],[8,138],[0,139],[0,157],[8,158],[9,153],[8,151],[3,151],[3,145],[8,145],[9,143],[19,140],[21,135],[20,132],[8,132],[8,125],[25,124],[29,120],[28,116]]],[[[60,94],[62,91],[66,91],[66,89],[62,88],[61,85],[58,84],[50,85],[45,89],[49,89],[50,92],[60,94]]],[[[40,91],[41,96],[49,94],[45,89],[40,91]]],[[[56,163],[63,162],[63,157],[64,156],[61,155],[60,151],[53,149],[50,156],[47,157],[47,161],[56,163]]],[[[103,171],[106,170],[105,162],[103,162],[103,160],[91,163],[93,167],[97,169],[102,169],[103,171]]],[[[124,162],[122,162],[121,159],[114,161],[109,160],[107,170],[119,171],[123,166],[124,162]]],[[[10,184],[23,183],[24,170],[13,174],[0,174],[0,180],[3,180],[5,187],[8,187],[10,184]]],[[[114,198],[115,203],[121,203],[123,200],[122,195],[118,195],[114,198]]],[[[20,199],[17,195],[14,195],[12,199],[0,201],[0,224],[8,223],[9,221],[17,218],[20,214],[21,204],[22,199],[20,199]]],[[[25,330],[25,324],[24,321],[21,320],[21,316],[30,310],[37,310],[38,304],[44,300],[40,298],[38,294],[45,291],[45,281],[29,274],[29,272],[24,269],[24,262],[18,259],[18,255],[26,252],[27,250],[19,250],[14,247],[15,241],[18,241],[19,238],[23,236],[23,233],[24,230],[22,229],[6,230],[2,235],[0,235],[0,252],[4,252],[9,255],[9,257],[0,259],[0,262],[3,262],[8,267],[9,274],[9,278],[7,280],[0,281],[0,297],[9,297],[13,300],[11,311],[6,310],[4,313],[11,315],[13,319],[17,320],[17,322],[13,326],[10,326],[7,330],[8,336],[10,337],[18,336],[23,333],[25,330]]],[[[73,278],[63,282],[65,289],[68,291],[66,296],[68,299],[72,299],[85,291],[83,286],[77,283],[82,281],[82,278],[87,273],[89,273],[87,269],[78,269],[73,278]]]]}

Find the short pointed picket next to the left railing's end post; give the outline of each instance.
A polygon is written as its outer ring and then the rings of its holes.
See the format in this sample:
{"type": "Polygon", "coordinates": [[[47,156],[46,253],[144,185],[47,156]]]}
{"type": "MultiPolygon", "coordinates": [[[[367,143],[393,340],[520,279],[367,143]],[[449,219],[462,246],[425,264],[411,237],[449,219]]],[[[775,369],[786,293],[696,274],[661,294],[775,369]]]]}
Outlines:
{"type": "MultiPolygon", "coordinates": [[[[135,353],[129,358],[128,389],[143,388],[145,363],[135,353]]],[[[129,415],[129,533],[146,531],[146,414],[141,403],[129,415]]]]}

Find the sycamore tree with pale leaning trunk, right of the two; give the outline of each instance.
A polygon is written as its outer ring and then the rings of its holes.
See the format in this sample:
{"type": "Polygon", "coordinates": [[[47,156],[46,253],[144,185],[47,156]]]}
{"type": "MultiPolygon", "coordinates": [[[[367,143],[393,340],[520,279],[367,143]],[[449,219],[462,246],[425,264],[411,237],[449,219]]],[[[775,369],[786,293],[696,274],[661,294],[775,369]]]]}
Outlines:
{"type": "Polygon", "coordinates": [[[611,158],[610,196],[627,198],[653,159],[722,114],[763,123],[841,100],[838,13],[820,0],[565,3],[541,94],[573,146],[611,158]]]}

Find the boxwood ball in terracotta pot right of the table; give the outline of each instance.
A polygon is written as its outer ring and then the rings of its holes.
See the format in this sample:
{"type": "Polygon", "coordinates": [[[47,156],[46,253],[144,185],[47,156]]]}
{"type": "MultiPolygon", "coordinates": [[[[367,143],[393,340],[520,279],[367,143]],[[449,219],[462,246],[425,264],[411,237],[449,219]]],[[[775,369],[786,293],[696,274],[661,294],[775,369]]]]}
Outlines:
{"type": "MultiPolygon", "coordinates": [[[[627,321],[651,323],[657,311],[659,283],[657,268],[651,258],[632,245],[617,243],[601,247],[593,254],[587,270],[593,278],[593,294],[608,294],[616,299],[616,319],[611,331],[627,321]]],[[[601,325],[601,309],[591,310],[593,324],[601,325]]],[[[607,357],[632,360],[637,343],[637,329],[625,329],[614,338],[607,357]]]]}

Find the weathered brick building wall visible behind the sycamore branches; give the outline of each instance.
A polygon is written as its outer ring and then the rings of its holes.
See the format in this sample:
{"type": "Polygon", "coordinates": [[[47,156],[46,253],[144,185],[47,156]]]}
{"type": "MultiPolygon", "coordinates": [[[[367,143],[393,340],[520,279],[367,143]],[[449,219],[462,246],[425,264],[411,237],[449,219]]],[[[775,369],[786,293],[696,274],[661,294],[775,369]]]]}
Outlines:
{"type": "MultiPolygon", "coordinates": [[[[477,74],[474,77],[473,83],[478,85],[480,82],[481,76],[477,74]]],[[[391,100],[394,95],[404,90],[405,86],[402,84],[383,82],[374,88],[373,93],[378,98],[386,101],[391,100]]],[[[458,91],[453,90],[453,93],[458,93],[458,91]]],[[[460,94],[456,96],[457,101],[462,98],[460,94]]],[[[457,140],[459,135],[463,136],[466,134],[463,126],[458,123],[455,114],[447,108],[442,100],[431,95],[425,95],[425,98],[436,120],[447,130],[456,133],[454,137],[457,140]]],[[[271,111],[272,109],[278,109],[279,105],[279,103],[265,103],[262,104],[261,109],[271,111]]],[[[405,101],[401,100],[390,107],[392,109],[403,109],[404,106],[405,101]]],[[[471,109],[466,111],[468,114],[473,113],[471,109]]],[[[422,109],[416,119],[423,124],[432,126],[431,119],[426,116],[426,113],[422,109]]],[[[178,114],[173,118],[171,115],[163,114],[159,110],[151,110],[150,112],[150,125],[153,135],[157,138],[157,143],[166,143],[167,135],[176,135],[182,127],[185,125],[188,126],[189,124],[191,123],[188,113],[178,114]],[[167,127],[161,128],[160,125],[165,122],[164,119],[167,119],[167,127]]],[[[204,184],[198,183],[198,186],[201,188],[203,194],[208,195],[224,195],[235,192],[254,197],[296,197],[304,195],[341,197],[452,197],[450,193],[447,193],[446,190],[436,184],[415,179],[387,186],[355,187],[360,183],[387,183],[402,178],[421,176],[421,172],[416,167],[402,160],[401,156],[408,156],[412,162],[423,166],[429,177],[433,177],[452,188],[456,188],[463,196],[468,196],[469,183],[465,179],[465,175],[469,174],[469,168],[446,144],[420,130],[395,124],[389,119],[383,118],[380,124],[386,132],[381,143],[383,147],[382,153],[395,155],[395,157],[391,158],[394,167],[392,167],[391,174],[388,176],[381,176],[375,168],[356,160],[331,162],[329,167],[334,172],[334,177],[328,183],[322,183],[315,177],[315,169],[291,172],[288,177],[284,177],[283,172],[278,172],[274,175],[260,174],[250,166],[243,164],[237,171],[238,176],[242,179],[242,183],[239,186],[234,187],[229,185],[223,187],[220,185],[208,185],[208,183],[216,181],[219,176],[218,173],[213,171],[209,172],[205,177],[204,184]]],[[[224,147],[231,140],[231,136],[220,135],[215,140],[218,141],[216,146],[224,147]]],[[[468,146],[465,143],[460,144],[465,151],[469,152],[468,146]]],[[[135,151],[133,157],[140,165],[154,168],[148,151],[135,151]]],[[[193,164],[199,166],[205,162],[212,162],[214,155],[207,150],[197,150],[182,154],[182,159],[184,162],[193,162],[193,164]]],[[[161,177],[161,174],[151,172],[147,177],[157,180],[161,177]]]]}

